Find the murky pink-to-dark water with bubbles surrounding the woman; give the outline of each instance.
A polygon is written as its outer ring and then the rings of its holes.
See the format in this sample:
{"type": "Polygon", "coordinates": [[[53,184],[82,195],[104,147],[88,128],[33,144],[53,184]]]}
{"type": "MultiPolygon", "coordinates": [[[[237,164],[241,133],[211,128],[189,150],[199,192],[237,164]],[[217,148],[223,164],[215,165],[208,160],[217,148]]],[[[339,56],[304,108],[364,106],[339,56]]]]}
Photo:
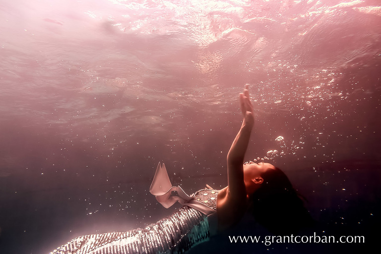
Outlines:
{"type": "Polygon", "coordinates": [[[226,186],[246,83],[247,158],[286,172],[318,234],[366,244],[197,253],[364,251],[380,237],[380,54],[377,0],[2,0],[0,253],[170,214],[148,192],[158,162],[188,193],[226,186]]]}

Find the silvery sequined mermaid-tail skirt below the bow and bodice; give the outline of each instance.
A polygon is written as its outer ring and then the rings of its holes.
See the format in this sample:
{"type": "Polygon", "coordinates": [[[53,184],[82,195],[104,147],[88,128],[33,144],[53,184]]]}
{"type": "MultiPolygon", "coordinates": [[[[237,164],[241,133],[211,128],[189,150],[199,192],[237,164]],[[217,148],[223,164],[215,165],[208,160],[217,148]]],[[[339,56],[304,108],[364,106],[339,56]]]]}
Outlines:
{"type": "Polygon", "coordinates": [[[183,254],[208,237],[206,216],[184,206],[144,229],[77,237],[50,254],[183,254]]]}

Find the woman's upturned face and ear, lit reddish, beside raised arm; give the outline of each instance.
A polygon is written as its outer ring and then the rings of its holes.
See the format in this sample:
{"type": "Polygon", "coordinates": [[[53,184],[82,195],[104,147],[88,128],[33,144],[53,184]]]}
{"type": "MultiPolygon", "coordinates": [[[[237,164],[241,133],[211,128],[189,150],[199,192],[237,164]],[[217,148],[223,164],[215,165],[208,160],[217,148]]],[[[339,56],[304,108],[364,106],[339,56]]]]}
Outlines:
{"type": "Polygon", "coordinates": [[[255,163],[253,161],[244,163],[244,181],[246,192],[248,194],[254,193],[262,184],[262,175],[267,170],[275,170],[275,167],[270,163],[255,163]]]}

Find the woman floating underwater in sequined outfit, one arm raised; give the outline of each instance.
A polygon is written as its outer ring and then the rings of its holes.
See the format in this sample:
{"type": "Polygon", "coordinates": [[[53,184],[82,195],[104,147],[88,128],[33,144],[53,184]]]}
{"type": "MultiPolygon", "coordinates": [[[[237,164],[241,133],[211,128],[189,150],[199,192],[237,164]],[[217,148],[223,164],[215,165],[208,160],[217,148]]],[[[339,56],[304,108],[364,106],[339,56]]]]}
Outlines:
{"type": "Polygon", "coordinates": [[[187,195],[172,187],[165,166],[158,165],[150,192],[164,206],[183,205],[177,212],[144,229],[81,236],[51,254],[178,254],[208,239],[216,222],[219,231],[236,225],[249,211],[277,235],[296,233],[311,223],[303,201],[287,176],[269,163],[244,163],[254,127],[248,86],[240,93],[243,123],[227,155],[228,186],[209,186],[187,195]]]}

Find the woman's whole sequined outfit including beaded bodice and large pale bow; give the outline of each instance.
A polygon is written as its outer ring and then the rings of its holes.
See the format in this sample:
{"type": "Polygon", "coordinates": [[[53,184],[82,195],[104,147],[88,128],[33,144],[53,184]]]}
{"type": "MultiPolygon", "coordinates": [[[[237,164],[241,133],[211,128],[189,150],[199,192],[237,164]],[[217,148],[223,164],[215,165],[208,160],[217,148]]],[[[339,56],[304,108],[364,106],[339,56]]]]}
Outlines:
{"type": "Polygon", "coordinates": [[[218,191],[204,189],[189,196],[172,186],[165,165],[159,163],[150,192],[166,208],[176,202],[183,207],[144,229],[77,237],[50,254],[183,254],[208,239],[206,215],[216,211],[218,191]]]}

